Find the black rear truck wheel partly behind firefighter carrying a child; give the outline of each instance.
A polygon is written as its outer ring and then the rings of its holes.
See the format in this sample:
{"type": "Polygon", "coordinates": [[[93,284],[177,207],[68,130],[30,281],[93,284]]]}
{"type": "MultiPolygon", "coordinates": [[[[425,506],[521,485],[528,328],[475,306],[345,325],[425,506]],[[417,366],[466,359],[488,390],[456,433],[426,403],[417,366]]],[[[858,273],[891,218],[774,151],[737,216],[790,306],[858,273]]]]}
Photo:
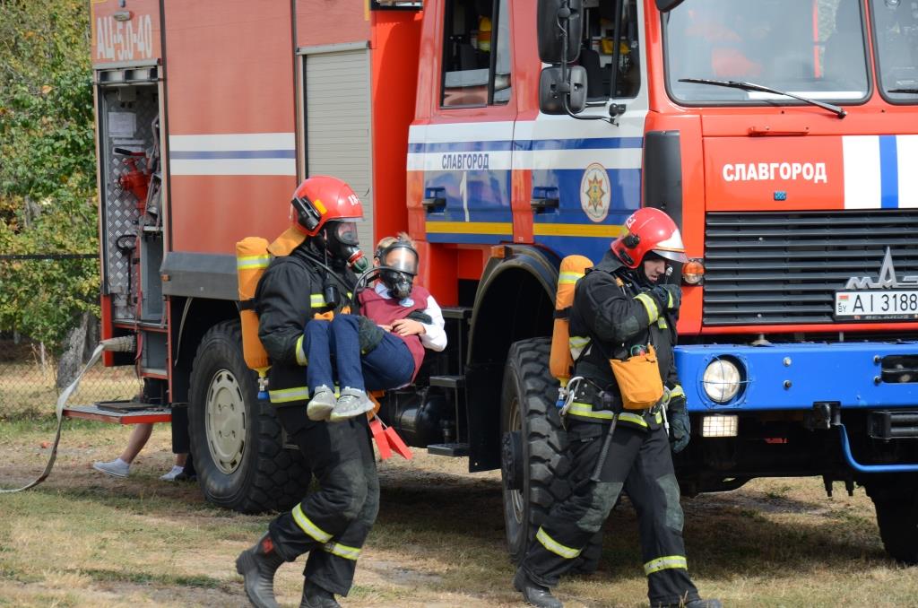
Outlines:
{"type": "Polygon", "coordinates": [[[241,344],[239,322],[223,321],[197,347],[188,423],[198,483],[207,501],[233,511],[283,511],[306,494],[311,474],[299,452],[282,447],[241,344]]]}

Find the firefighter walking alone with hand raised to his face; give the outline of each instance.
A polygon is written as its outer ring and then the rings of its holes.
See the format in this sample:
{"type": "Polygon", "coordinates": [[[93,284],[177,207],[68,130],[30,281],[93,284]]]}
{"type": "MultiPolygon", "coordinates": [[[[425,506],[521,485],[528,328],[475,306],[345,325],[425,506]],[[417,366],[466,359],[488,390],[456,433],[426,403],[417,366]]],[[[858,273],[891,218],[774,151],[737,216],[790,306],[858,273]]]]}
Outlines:
{"type": "Polygon", "coordinates": [[[576,363],[565,420],[574,491],[552,508],[513,584],[526,602],[560,608],[551,588],[624,490],[638,514],[651,605],[717,608],[721,603],[701,600],[689,578],[670,455],[689,443],[689,416],[673,360],[681,292],[660,283],[667,261],[686,261],[685,249],[676,224],[658,209],[639,209],[625,228],[577,282],[569,311],[576,363]],[[621,363],[650,364],[659,394],[643,404],[641,393],[654,382],[632,382],[621,363]]]}

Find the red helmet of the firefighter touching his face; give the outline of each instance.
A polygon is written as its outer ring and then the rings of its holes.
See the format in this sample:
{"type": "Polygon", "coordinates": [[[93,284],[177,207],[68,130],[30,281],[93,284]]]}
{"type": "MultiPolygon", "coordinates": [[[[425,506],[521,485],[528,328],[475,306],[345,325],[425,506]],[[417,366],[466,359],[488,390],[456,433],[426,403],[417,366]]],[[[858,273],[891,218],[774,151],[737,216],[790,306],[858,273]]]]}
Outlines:
{"type": "Polygon", "coordinates": [[[660,209],[640,208],[625,220],[624,231],[612,241],[621,263],[637,268],[644,255],[653,252],[673,262],[688,262],[676,222],[660,209]]]}

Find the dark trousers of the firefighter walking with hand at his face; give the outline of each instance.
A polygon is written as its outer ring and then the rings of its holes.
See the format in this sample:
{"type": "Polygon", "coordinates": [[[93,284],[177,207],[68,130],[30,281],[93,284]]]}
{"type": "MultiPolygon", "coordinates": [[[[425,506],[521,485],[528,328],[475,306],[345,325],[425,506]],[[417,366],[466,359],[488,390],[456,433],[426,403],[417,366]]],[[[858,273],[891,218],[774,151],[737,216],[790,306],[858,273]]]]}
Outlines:
{"type": "MultiPolygon", "coordinates": [[[[582,424],[591,423],[571,422],[572,427],[582,424]]],[[[637,511],[651,606],[698,599],[686,565],[682,507],[666,430],[662,426],[642,430],[620,423],[612,435],[599,482],[593,482],[589,478],[608,426],[601,428],[603,434],[599,436],[571,441],[568,456],[575,490],[554,504],[521,568],[531,580],[554,587],[625,490],[637,511]]]]}

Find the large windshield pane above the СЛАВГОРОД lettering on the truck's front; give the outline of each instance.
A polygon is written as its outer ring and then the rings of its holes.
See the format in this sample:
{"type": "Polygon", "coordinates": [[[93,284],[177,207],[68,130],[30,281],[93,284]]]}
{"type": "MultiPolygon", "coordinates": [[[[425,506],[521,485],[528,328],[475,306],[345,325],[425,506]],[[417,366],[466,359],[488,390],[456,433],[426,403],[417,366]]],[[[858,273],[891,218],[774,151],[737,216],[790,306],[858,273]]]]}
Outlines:
{"type": "Polygon", "coordinates": [[[666,80],[677,101],[800,103],[787,96],[681,79],[753,82],[849,104],[868,95],[861,0],[687,0],[666,14],[663,23],[666,80]]]}

